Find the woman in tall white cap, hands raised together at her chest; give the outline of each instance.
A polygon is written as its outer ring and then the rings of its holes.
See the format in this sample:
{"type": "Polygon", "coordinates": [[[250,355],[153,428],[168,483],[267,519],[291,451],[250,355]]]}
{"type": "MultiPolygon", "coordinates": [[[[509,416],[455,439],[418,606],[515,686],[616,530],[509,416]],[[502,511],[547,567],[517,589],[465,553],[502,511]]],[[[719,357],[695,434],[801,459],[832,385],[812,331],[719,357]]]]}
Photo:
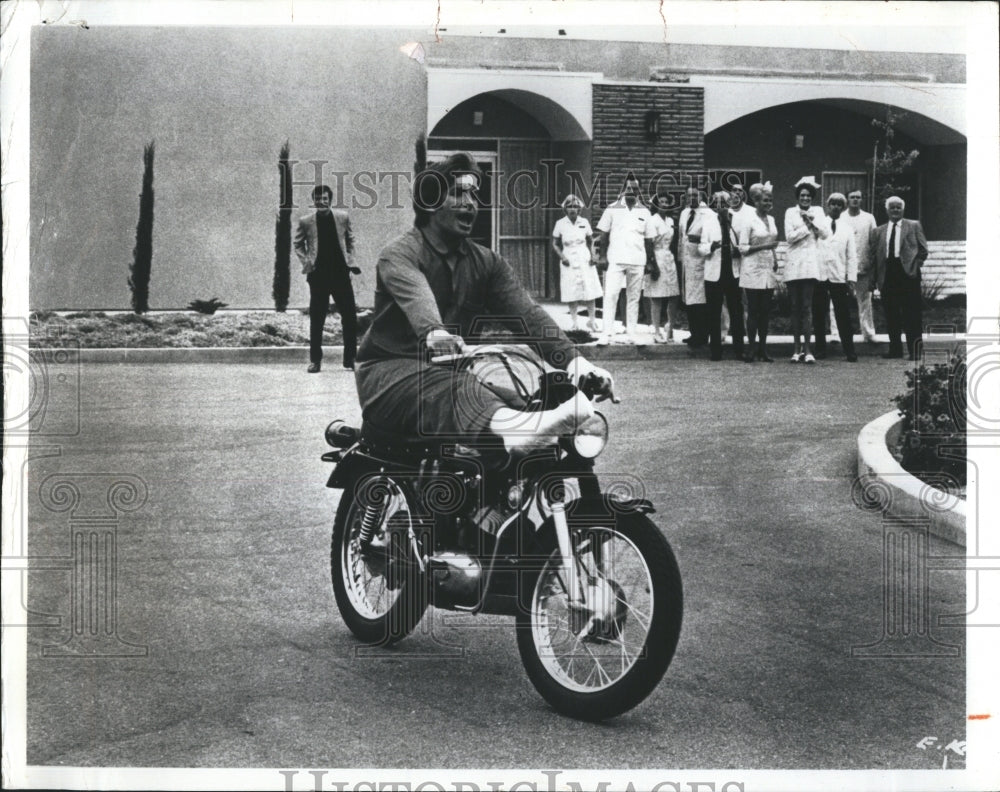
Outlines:
{"type": "Polygon", "coordinates": [[[809,348],[812,318],[812,292],[819,278],[819,240],[830,235],[830,221],[823,210],[813,206],[819,185],[812,176],[804,176],[795,185],[798,206],[785,212],[785,286],[792,304],[792,339],[795,352],[792,363],[815,363],[809,348]]]}

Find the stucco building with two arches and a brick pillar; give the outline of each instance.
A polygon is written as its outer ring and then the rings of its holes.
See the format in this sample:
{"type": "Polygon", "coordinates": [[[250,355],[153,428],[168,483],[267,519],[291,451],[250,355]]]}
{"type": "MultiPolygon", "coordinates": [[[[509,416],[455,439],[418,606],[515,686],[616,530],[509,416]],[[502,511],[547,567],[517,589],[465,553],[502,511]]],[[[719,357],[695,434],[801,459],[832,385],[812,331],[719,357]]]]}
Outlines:
{"type": "MultiPolygon", "coordinates": [[[[405,29],[36,29],[32,308],[125,308],[142,144],[157,142],[154,308],[219,296],[269,307],[277,151],[300,207],[318,177],[352,213],[359,302],[378,249],[411,222],[413,142],[467,149],[490,174],[476,235],[537,295],[557,294],[549,234],[582,193],[596,218],[625,175],[646,192],[726,174],[775,187],[775,217],[812,174],[872,189],[886,108],[917,149],[907,216],[925,278],[964,291],[965,58],[405,29]]],[[[307,302],[295,275],[292,305],[307,302]]]]}

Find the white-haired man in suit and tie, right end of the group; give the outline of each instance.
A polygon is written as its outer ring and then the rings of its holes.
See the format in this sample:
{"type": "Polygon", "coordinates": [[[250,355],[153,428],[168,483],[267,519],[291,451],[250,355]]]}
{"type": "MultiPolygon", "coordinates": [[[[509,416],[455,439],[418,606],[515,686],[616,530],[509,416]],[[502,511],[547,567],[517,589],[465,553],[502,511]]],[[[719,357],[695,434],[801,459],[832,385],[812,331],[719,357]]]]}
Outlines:
{"type": "Polygon", "coordinates": [[[874,256],[872,289],[882,293],[885,321],[889,328],[889,351],[882,357],[903,357],[902,333],[910,360],[920,356],[923,330],[923,295],[920,267],[927,258],[927,238],[916,220],[904,220],[906,203],[898,196],[885,202],[889,222],[872,232],[874,256]]]}

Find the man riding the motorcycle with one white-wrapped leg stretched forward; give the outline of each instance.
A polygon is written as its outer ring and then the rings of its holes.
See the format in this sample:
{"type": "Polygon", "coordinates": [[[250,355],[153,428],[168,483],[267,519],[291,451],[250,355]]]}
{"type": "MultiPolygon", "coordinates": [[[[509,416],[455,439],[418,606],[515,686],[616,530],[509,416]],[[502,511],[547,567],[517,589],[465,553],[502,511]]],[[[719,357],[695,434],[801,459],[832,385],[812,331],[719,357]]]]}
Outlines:
{"type": "Polygon", "coordinates": [[[389,432],[462,439],[499,438],[507,451],[551,442],[593,415],[582,394],[549,410],[523,412],[468,371],[428,366],[456,354],[484,320],[520,323],[547,363],[574,383],[614,395],[611,375],[576,350],[517,280],[511,266],[472,242],[481,173],[468,153],[420,169],[414,227],[389,243],[376,266],[375,308],[361,341],[356,384],[364,418],[389,432]]]}

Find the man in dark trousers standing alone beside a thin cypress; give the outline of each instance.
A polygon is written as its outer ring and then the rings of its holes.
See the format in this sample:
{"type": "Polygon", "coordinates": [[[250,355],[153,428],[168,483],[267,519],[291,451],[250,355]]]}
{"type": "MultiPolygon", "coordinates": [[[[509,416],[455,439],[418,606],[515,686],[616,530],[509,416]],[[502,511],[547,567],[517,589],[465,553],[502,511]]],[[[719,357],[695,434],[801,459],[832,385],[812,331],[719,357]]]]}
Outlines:
{"type": "Polygon", "coordinates": [[[344,368],[354,369],[358,348],[358,313],[354,304],[351,275],[361,272],[352,266],[354,236],[351,219],[342,209],[332,209],[333,190],[320,184],[312,191],[313,211],[299,218],[295,229],[295,253],[309,282],[309,368],[319,371],[323,359],[323,324],[330,296],[340,313],[344,333],[344,368]]]}

